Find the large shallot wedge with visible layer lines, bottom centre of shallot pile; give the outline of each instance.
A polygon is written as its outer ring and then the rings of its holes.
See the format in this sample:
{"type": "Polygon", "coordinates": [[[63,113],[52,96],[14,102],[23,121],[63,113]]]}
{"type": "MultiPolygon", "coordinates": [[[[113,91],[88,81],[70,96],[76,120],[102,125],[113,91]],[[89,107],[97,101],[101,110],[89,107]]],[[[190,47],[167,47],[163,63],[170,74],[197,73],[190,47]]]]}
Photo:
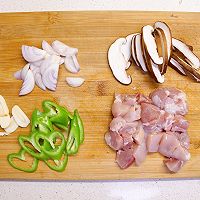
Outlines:
{"type": "Polygon", "coordinates": [[[52,63],[42,74],[42,81],[49,90],[52,91],[56,90],[58,70],[59,70],[59,64],[52,63]]]}

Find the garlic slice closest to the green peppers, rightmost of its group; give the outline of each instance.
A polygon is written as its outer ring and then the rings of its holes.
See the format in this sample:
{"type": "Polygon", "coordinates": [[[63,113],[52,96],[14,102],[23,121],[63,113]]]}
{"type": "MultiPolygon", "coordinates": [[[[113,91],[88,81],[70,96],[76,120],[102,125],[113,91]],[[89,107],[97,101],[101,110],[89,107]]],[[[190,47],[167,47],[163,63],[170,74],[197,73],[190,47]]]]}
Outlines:
{"type": "Polygon", "coordinates": [[[23,112],[23,110],[15,105],[12,108],[12,115],[16,121],[16,123],[20,126],[20,127],[27,127],[30,123],[29,118],[26,116],[26,114],[23,112]]]}

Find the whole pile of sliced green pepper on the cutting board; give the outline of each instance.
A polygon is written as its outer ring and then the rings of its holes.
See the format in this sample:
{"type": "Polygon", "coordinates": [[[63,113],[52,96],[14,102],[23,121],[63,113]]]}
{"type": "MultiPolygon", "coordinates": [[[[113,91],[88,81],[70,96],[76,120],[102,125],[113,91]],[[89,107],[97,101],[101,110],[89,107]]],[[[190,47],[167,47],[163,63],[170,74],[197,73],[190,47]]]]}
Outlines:
{"type": "Polygon", "coordinates": [[[28,136],[19,136],[21,149],[18,153],[9,154],[8,162],[15,169],[34,172],[41,160],[50,169],[62,172],[66,168],[68,155],[76,154],[84,141],[83,122],[78,110],[72,115],[65,107],[52,101],[43,101],[42,108],[44,112],[34,110],[31,133],[28,136]],[[67,132],[66,138],[61,130],[67,132]],[[33,157],[30,167],[18,166],[14,160],[25,161],[25,153],[33,157]]]}

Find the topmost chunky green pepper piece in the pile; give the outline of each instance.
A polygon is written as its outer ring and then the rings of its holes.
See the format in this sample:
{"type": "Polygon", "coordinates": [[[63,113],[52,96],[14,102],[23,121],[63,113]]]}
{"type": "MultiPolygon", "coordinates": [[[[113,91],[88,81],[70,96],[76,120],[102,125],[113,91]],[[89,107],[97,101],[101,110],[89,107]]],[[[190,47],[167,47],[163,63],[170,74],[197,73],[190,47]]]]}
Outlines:
{"type": "Polygon", "coordinates": [[[42,107],[46,115],[50,118],[50,121],[55,126],[68,130],[70,120],[73,116],[66,108],[49,100],[43,101],[42,107]]]}

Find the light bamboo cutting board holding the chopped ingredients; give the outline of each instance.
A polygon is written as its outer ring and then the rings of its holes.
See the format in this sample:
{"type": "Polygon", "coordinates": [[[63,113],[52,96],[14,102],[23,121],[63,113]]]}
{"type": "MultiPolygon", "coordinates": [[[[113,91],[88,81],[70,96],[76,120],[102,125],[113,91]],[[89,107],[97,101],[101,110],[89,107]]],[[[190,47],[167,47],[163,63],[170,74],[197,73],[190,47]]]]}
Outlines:
{"type": "Polygon", "coordinates": [[[166,81],[159,85],[133,65],[128,72],[133,82],[129,86],[119,84],[108,67],[107,50],[118,37],[139,32],[146,24],[165,21],[177,37],[194,47],[200,57],[200,13],[172,12],[43,12],[0,14],[0,94],[9,109],[19,105],[30,117],[35,108],[41,109],[45,99],[55,100],[69,110],[77,108],[85,125],[85,142],[76,156],[69,157],[66,170],[57,173],[43,162],[37,172],[28,174],[9,166],[6,157],[17,152],[17,137],[28,135],[30,126],[0,138],[1,179],[51,179],[51,180],[121,180],[137,178],[192,178],[200,177],[200,84],[169,69],[166,81]],[[21,45],[41,47],[42,40],[61,40],[79,49],[81,71],[78,76],[86,79],[80,88],[70,88],[66,76],[72,76],[64,66],[60,67],[56,92],[34,91],[19,97],[21,81],[13,73],[25,61],[21,57],[21,45]],[[190,121],[191,160],[177,174],[170,174],[163,166],[163,157],[147,156],[140,166],[120,170],[115,163],[115,152],[104,142],[104,133],[111,120],[113,95],[142,92],[149,94],[157,87],[177,87],[186,92],[189,102],[187,119],[190,121]],[[135,90],[133,88],[136,88],[135,90]]]}

